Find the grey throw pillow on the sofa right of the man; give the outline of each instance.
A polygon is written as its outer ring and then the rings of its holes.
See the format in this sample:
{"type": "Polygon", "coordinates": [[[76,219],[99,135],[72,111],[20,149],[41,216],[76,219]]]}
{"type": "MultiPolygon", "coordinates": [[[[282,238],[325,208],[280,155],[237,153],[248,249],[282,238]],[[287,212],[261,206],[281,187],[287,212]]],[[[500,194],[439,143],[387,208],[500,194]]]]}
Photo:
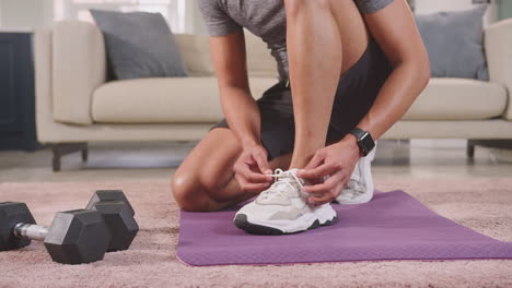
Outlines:
{"type": "Polygon", "coordinates": [[[489,80],[484,55],[486,8],[416,16],[433,77],[489,80]]]}

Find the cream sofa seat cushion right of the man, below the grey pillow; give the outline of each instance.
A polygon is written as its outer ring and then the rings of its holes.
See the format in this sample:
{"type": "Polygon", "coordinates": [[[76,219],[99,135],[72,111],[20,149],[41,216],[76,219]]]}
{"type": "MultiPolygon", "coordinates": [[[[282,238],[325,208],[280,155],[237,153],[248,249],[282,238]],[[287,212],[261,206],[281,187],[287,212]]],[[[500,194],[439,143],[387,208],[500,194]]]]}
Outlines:
{"type": "Polygon", "coordinates": [[[500,116],[507,89],[468,79],[431,79],[403,120],[480,120],[500,116]]]}

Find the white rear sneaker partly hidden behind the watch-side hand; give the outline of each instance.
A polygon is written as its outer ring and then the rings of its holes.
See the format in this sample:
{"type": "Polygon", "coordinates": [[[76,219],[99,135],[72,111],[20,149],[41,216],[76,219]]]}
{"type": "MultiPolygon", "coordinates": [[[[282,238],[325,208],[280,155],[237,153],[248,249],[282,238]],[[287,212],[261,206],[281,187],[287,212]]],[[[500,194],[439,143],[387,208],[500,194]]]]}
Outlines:
{"type": "Polygon", "coordinates": [[[376,146],[356,164],[350,180],[341,194],[336,199],[339,204],[361,204],[373,197],[372,160],[375,158],[376,146]]]}

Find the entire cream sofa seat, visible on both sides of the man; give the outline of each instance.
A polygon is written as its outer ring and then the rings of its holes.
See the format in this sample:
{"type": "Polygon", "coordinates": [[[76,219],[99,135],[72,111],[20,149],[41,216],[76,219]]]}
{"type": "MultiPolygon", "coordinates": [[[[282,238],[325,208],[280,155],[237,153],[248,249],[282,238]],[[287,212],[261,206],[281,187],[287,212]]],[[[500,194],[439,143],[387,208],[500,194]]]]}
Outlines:
{"type": "MultiPolygon", "coordinates": [[[[276,83],[252,77],[255,98],[276,83]]],[[[404,120],[481,120],[500,116],[507,91],[494,83],[432,79],[404,120]]],[[[217,122],[222,118],[214,77],[114,81],[93,94],[92,117],[101,123],[217,122]]]]}

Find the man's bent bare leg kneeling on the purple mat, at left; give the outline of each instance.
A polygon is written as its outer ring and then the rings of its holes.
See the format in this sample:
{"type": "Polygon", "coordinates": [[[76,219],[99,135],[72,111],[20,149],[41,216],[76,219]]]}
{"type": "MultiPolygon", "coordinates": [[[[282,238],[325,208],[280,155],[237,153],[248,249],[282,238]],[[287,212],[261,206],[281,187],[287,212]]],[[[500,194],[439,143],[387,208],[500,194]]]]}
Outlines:
{"type": "MultiPolygon", "coordinates": [[[[256,195],[244,192],[234,179],[233,164],[242,152],[233,132],[213,129],[190,152],[172,179],[179,207],[187,211],[219,211],[256,195]]],[[[291,155],[272,159],[270,168],[288,167],[291,155]]]]}

